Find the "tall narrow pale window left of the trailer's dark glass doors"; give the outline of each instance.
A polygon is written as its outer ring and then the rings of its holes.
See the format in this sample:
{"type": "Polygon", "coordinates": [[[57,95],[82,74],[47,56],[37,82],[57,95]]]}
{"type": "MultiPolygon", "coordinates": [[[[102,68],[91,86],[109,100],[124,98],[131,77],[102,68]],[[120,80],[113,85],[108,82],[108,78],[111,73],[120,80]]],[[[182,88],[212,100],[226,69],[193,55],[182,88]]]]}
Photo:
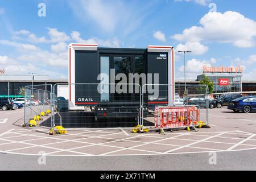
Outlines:
{"type": "MultiPolygon", "coordinates": [[[[101,56],[101,66],[100,72],[105,73],[109,77],[109,57],[108,56],[101,56]]],[[[101,77],[102,79],[102,77],[101,77]]],[[[101,93],[101,102],[109,102],[109,79],[103,81],[104,85],[102,85],[102,89],[108,90],[108,92],[101,93]]]]}

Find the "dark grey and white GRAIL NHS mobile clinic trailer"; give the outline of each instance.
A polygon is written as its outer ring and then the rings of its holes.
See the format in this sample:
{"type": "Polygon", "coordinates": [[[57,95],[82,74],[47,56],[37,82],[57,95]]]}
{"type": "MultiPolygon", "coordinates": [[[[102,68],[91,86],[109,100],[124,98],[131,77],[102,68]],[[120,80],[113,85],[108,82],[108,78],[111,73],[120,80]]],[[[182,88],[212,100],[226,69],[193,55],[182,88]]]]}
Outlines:
{"type": "MultiPolygon", "coordinates": [[[[136,118],[141,101],[140,92],[118,92],[117,87],[138,91],[141,89],[135,88],[138,85],[149,84],[154,88],[154,84],[166,84],[168,89],[163,89],[157,96],[146,93],[144,106],[171,105],[175,97],[174,52],[171,46],[148,46],[143,49],[69,44],[69,102],[75,106],[89,106],[96,119],[136,118]],[[143,74],[146,76],[143,77],[143,74]],[[139,76],[139,81],[137,79],[134,83],[134,76],[139,76]],[[103,89],[105,92],[101,92],[103,89]]],[[[144,112],[147,113],[146,109],[144,112]]]]}

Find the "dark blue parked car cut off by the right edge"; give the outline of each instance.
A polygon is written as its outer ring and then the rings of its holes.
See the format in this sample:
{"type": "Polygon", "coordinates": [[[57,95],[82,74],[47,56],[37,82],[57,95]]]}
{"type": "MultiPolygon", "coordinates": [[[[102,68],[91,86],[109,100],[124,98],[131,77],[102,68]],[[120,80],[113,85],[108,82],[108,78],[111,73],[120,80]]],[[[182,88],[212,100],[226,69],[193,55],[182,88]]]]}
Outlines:
{"type": "Polygon", "coordinates": [[[256,111],[256,96],[240,97],[229,102],[228,109],[235,113],[243,111],[243,113],[250,113],[256,111]]]}

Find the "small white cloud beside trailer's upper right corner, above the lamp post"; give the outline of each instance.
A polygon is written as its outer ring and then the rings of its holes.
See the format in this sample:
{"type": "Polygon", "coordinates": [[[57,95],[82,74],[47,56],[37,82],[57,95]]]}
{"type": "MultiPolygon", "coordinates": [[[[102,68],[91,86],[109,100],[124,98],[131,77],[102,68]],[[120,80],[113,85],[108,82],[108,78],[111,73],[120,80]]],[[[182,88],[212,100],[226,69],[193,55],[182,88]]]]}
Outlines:
{"type": "Polygon", "coordinates": [[[192,51],[193,55],[202,55],[208,51],[208,47],[199,42],[186,42],[185,44],[178,44],[177,51],[192,51]]]}

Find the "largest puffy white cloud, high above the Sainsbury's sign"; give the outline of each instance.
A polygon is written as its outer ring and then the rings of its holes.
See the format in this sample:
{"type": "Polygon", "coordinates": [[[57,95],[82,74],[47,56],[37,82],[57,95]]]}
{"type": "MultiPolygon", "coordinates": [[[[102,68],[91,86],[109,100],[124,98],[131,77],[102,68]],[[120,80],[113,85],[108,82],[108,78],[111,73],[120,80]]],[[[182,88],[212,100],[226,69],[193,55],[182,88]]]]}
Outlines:
{"type": "Polygon", "coordinates": [[[193,26],[172,38],[181,42],[232,43],[237,47],[253,47],[256,22],[236,11],[211,12],[200,19],[200,27],[193,26]]]}

